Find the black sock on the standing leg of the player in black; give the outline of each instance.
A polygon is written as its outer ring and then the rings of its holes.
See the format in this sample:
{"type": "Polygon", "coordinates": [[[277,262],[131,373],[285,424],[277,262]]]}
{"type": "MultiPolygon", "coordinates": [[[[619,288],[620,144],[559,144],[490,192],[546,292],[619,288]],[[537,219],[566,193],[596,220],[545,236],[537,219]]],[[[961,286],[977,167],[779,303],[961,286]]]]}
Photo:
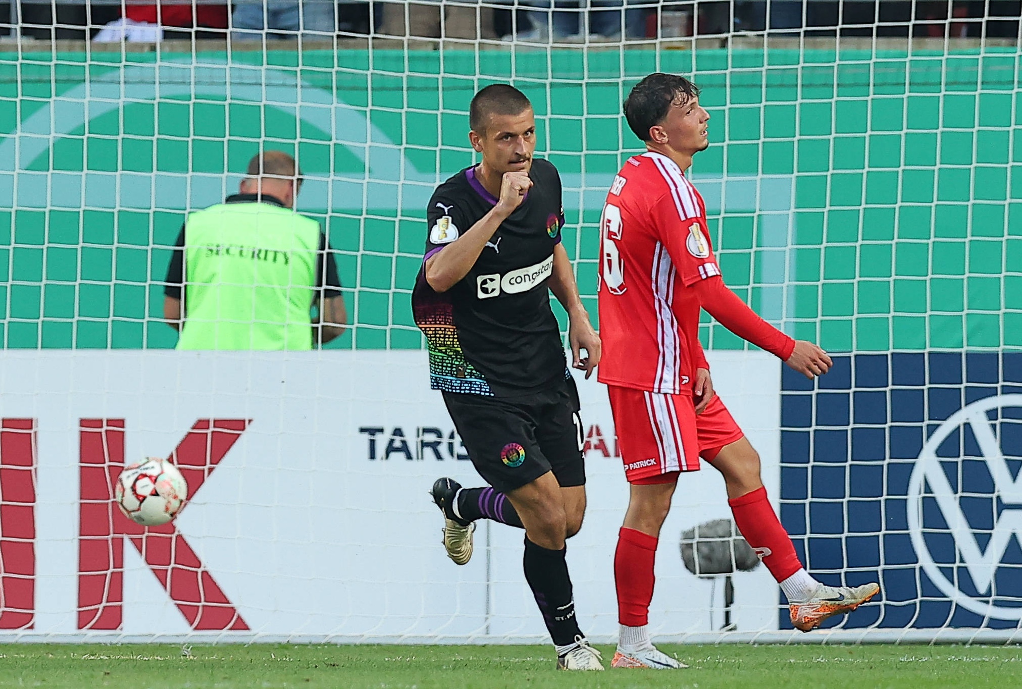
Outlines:
{"type": "Polygon", "coordinates": [[[555,646],[568,646],[575,637],[583,636],[575,621],[566,552],[566,548],[548,550],[525,537],[525,581],[532,589],[555,646]]]}

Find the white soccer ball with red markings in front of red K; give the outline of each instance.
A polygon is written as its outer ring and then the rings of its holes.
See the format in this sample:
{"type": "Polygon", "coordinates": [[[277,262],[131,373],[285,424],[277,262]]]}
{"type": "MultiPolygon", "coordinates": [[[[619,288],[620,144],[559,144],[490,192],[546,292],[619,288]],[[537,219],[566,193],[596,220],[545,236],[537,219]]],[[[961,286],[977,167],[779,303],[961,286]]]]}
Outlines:
{"type": "Polygon", "coordinates": [[[166,459],[150,457],[126,466],[113,487],[118,507],[143,526],[158,526],[173,519],[188,497],[185,477],[166,459]]]}

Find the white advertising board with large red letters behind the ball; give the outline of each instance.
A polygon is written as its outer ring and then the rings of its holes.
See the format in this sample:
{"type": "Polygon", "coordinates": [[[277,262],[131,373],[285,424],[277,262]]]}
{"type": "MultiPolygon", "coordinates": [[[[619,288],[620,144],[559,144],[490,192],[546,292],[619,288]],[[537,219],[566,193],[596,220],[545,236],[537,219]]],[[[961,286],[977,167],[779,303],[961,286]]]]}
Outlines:
{"type": "MultiPolygon", "coordinates": [[[[708,354],[776,499],[779,363],[708,354]]],[[[21,548],[4,551],[0,639],[545,638],[521,572],[522,532],[480,523],[471,562],[459,567],[445,555],[427,492],[443,475],[481,480],[440,395],[428,389],[422,352],[7,351],[0,368],[0,461],[7,476],[20,475],[9,465],[29,433],[36,467],[34,538],[25,536],[29,512],[0,523],[0,539],[21,548]],[[175,448],[190,467],[188,505],[166,533],[126,538],[128,522],[104,493],[108,477],[121,461],[175,448]]],[[[589,509],[568,560],[582,628],[610,639],[628,486],[605,387],[576,379],[589,509]]],[[[0,500],[24,506],[24,491],[13,491],[0,500]]],[[[682,477],[661,535],[657,637],[722,627],[722,581],[689,573],[679,549],[684,530],[722,517],[730,518],[724,483],[704,463],[682,477]]],[[[776,630],[769,572],[737,573],[734,587],[737,630],[776,630]]]]}

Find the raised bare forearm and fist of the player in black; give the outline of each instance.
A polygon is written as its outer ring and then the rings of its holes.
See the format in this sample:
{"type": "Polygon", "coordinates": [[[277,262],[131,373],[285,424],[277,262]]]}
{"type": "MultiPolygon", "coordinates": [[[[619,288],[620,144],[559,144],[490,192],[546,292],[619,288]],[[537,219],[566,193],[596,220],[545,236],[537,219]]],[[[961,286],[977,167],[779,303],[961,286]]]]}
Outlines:
{"type": "Polygon", "coordinates": [[[532,180],[527,172],[504,173],[500,199],[493,210],[465,234],[445,246],[443,251],[437,251],[426,261],[426,282],[429,286],[435,291],[445,292],[468,275],[486,242],[493,238],[501,223],[521,204],[531,186],[532,180]]]}

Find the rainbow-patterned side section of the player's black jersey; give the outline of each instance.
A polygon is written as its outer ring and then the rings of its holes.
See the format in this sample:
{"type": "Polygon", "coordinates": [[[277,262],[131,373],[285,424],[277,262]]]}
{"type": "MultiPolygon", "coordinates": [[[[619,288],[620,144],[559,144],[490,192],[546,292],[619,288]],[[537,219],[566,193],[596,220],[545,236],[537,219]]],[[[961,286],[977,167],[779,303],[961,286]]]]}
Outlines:
{"type": "Polygon", "coordinates": [[[426,336],[429,354],[429,386],[447,393],[493,396],[490,383],[475,369],[461,349],[454,325],[454,306],[446,293],[433,291],[421,273],[412,298],[415,324],[426,336]]]}

